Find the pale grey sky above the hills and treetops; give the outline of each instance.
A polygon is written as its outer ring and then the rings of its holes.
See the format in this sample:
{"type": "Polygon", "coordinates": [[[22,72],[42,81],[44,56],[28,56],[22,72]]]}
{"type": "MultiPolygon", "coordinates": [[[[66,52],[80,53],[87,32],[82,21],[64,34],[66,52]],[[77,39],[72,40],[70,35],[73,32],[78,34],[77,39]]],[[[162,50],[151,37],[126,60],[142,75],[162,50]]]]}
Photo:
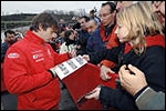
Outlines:
{"type": "Polygon", "coordinates": [[[1,14],[39,13],[44,10],[75,11],[85,9],[89,12],[96,7],[100,9],[105,1],[1,1],[1,14]]]}

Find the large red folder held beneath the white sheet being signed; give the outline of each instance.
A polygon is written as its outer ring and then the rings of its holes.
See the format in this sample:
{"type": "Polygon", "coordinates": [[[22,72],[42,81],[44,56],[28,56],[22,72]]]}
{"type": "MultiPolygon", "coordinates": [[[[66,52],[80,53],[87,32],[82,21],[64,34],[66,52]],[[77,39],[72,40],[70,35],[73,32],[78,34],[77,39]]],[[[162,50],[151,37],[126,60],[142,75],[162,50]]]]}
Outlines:
{"type": "Polygon", "coordinates": [[[102,104],[98,100],[84,100],[82,97],[92,91],[98,84],[110,87],[115,89],[115,79],[117,74],[112,73],[112,79],[110,81],[103,81],[100,78],[100,68],[86,63],[72,74],[62,79],[68,90],[70,91],[74,103],[77,105],[79,110],[102,110],[102,104]],[[82,98],[82,103],[77,104],[77,100],[82,98]]]}

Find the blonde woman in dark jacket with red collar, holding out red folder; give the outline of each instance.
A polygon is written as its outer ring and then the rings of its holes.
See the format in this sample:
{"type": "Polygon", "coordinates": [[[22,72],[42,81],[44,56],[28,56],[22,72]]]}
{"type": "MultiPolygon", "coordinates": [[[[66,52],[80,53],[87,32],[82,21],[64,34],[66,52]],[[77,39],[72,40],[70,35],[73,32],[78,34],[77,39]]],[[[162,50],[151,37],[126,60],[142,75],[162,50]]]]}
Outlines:
{"type": "MultiPolygon", "coordinates": [[[[101,67],[103,80],[110,80],[111,77],[107,73],[112,71],[117,73],[123,64],[133,64],[145,73],[151,88],[165,92],[165,38],[162,33],[162,24],[152,13],[149,6],[147,2],[137,2],[122,9],[116,18],[116,33],[121,44],[114,49],[84,56],[84,58],[93,63],[103,59],[117,63],[112,70],[101,67]]],[[[134,98],[121,87],[117,89],[100,87],[92,92],[86,99],[98,99],[104,108],[137,109],[135,98],[139,92],[135,93],[134,98]]]]}

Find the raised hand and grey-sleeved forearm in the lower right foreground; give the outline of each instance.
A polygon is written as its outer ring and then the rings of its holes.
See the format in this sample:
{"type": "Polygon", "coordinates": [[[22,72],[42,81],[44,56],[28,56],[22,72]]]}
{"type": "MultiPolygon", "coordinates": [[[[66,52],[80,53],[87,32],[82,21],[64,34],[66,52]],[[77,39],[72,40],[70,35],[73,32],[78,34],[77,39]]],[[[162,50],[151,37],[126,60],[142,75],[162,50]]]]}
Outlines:
{"type": "Polygon", "coordinates": [[[134,98],[139,110],[164,110],[165,93],[156,92],[147,87],[145,74],[136,67],[121,67],[118,75],[121,85],[134,98]]]}

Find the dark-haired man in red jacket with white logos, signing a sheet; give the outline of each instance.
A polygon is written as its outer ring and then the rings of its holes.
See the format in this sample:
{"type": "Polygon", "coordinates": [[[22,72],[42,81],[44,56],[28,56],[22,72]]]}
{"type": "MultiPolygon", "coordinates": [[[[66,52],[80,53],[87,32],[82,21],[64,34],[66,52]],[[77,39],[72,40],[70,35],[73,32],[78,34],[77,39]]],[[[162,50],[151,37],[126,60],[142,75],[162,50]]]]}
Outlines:
{"type": "Polygon", "coordinates": [[[55,36],[53,13],[40,13],[21,41],[11,46],[4,59],[4,82],[18,94],[18,110],[58,109],[60,85],[54,67],[72,53],[58,54],[46,42],[55,36]]]}

